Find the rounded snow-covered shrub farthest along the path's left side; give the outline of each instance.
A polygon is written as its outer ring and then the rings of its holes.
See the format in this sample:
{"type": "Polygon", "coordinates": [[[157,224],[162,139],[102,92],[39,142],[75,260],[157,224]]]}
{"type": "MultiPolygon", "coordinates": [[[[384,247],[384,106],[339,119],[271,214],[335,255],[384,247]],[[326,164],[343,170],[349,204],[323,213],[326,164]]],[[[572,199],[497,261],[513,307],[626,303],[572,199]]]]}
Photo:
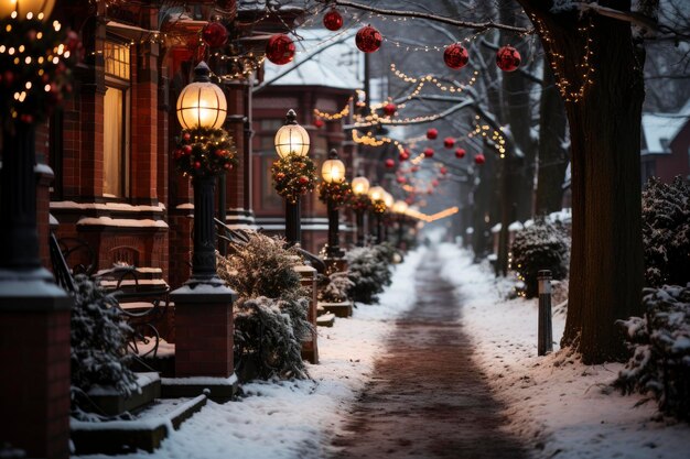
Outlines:
{"type": "Polygon", "coordinates": [[[354,285],[348,295],[355,302],[371,304],[390,285],[392,272],[386,249],[360,247],[347,252],[347,275],[354,285]]]}

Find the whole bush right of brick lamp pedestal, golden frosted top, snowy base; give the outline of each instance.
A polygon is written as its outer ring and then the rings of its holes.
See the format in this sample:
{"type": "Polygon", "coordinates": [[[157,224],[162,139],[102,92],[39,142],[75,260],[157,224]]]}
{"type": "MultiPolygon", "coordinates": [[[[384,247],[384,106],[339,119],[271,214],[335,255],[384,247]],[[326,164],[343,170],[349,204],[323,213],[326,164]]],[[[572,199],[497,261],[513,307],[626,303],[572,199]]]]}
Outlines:
{"type": "Polygon", "coordinates": [[[297,251],[283,245],[252,232],[227,258],[217,255],[218,276],[240,297],[234,306],[235,361],[256,367],[257,378],[306,376],[301,348],[312,331],[309,294],[294,271],[297,251]]]}

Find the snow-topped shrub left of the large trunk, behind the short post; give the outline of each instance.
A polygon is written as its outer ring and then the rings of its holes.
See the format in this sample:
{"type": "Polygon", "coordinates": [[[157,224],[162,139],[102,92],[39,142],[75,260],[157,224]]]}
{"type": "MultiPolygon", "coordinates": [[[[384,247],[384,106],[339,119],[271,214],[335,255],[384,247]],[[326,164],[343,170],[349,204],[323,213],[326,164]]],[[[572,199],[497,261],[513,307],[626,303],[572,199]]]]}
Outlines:
{"type": "Polygon", "coordinates": [[[539,271],[550,270],[557,281],[568,274],[570,240],[560,221],[537,218],[535,225],[516,232],[510,251],[513,269],[525,283],[524,294],[528,298],[539,293],[539,271]]]}

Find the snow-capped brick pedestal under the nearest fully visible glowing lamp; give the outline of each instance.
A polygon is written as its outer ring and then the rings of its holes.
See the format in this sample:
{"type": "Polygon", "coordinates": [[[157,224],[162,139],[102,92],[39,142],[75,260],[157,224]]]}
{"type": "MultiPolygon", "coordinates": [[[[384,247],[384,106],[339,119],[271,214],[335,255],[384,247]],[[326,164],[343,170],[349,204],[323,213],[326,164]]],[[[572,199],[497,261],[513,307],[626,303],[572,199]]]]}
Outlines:
{"type": "Polygon", "coordinates": [[[185,285],[170,297],[175,303],[175,378],[233,375],[235,292],[185,285]]]}

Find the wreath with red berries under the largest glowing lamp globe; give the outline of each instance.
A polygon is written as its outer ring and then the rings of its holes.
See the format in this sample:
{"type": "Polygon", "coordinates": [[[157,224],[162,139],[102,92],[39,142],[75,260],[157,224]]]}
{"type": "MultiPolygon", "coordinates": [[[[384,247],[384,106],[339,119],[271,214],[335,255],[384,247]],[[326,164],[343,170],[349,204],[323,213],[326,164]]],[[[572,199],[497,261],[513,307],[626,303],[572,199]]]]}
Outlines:
{"type": "Polygon", "coordinates": [[[217,175],[238,164],[233,138],[223,129],[184,129],[175,140],[173,160],[184,176],[217,175]]]}

